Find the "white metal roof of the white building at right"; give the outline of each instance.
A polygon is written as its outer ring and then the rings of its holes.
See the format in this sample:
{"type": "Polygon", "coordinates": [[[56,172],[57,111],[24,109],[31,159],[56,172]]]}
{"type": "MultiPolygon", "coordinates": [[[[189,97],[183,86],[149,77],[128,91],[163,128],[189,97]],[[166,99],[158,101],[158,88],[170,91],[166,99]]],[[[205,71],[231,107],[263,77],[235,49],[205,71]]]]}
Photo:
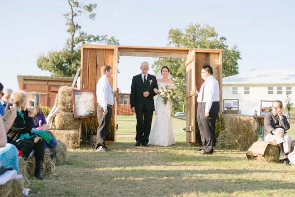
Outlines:
{"type": "Polygon", "coordinates": [[[257,69],[222,78],[223,85],[295,84],[295,69],[257,69]]]}

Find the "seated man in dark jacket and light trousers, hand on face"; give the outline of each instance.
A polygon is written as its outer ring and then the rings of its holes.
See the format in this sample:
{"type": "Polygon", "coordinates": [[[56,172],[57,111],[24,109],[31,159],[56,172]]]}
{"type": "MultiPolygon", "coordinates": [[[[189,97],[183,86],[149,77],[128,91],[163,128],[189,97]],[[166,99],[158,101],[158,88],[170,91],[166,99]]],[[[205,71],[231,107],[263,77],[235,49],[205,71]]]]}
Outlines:
{"type": "Polygon", "coordinates": [[[272,110],[264,119],[264,138],[265,141],[275,140],[280,150],[279,160],[286,160],[287,154],[291,152],[291,137],[286,134],[286,131],[290,129],[290,124],[287,117],[282,114],[282,109],[282,101],[273,101],[272,110]]]}

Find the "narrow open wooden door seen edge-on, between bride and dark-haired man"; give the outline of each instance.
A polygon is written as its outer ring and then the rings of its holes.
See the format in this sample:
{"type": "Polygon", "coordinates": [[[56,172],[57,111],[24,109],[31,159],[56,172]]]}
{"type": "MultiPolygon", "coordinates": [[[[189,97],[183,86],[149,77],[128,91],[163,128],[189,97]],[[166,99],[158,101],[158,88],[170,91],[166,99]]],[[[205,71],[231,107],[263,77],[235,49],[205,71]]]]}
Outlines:
{"type": "Polygon", "coordinates": [[[196,51],[190,50],[186,56],[186,141],[196,142],[196,51]]]}

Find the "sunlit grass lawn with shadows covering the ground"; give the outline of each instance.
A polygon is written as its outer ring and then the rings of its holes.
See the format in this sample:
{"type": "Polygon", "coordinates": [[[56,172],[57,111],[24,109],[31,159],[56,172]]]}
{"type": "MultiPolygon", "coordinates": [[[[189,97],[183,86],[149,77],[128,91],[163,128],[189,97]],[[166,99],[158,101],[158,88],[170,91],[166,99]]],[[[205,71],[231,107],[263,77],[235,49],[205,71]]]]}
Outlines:
{"type": "MultiPolygon", "coordinates": [[[[54,175],[30,181],[30,196],[295,196],[295,165],[249,161],[246,150],[215,149],[203,156],[200,147],[187,145],[185,125],[185,119],[173,118],[176,145],[166,148],[136,147],[134,137],[117,137],[111,152],[89,145],[69,149],[54,175]]],[[[118,134],[135,134],[135,126],[135,116],[118,116],[118,134]]]]}

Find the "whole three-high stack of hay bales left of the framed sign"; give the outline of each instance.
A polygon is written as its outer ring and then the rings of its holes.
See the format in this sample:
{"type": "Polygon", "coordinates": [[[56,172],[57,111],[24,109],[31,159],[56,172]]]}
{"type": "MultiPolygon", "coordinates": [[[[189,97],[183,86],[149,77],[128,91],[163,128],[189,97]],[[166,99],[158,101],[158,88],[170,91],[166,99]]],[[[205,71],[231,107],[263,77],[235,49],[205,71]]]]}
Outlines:
{"type": "Polygon", "coordinates": [[[74,118],[73,113],[73,90],[76,89],[68,86],[59,88],[57,105],[60,111],[54,118],[56,130],[50,129],[57,139],[73,149],[80,147],[80,120],[74,118]]]}

